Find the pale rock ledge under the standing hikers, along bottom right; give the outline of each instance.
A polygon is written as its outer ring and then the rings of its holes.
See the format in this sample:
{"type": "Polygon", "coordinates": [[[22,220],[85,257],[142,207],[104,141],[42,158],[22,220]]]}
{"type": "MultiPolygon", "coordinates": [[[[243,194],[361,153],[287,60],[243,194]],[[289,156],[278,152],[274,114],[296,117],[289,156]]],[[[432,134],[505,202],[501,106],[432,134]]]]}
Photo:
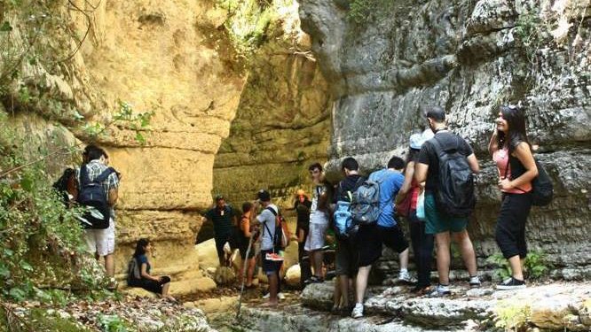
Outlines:
{"type": "Polygon", "coordinates": [[[360,320],[328,312],[333,289],[332,282],[313,284],[301,295],[290,293],[276,309],[251,297],[240,320],[226,316],[213,324],[228,331],[591,330],[589,282],[539,283],[517,291],[496,291],[490,283],[470,290],[457,282],[444,298],[419,297],[407,286],[374,287],[360,320]]]}

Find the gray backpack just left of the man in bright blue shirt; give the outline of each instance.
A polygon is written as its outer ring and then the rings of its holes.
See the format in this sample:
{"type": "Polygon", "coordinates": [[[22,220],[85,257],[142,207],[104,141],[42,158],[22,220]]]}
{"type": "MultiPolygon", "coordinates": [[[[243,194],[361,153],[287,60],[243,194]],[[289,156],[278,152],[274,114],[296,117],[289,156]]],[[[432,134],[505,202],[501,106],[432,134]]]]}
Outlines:
{"type": "Polygon", "coordinates": [[[366,180],[353,192],[351,201],[351,215],[353,222],[357,225],[372,225],[380,217],[380,183],[383,179],[376,181],[366,180]]]}

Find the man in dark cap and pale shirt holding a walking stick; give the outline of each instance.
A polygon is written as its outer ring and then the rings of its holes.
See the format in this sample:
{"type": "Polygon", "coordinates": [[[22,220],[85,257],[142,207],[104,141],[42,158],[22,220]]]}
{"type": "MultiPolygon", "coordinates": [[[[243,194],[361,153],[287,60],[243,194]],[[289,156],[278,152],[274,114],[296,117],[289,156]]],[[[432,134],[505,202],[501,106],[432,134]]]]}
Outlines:
{"type": "Polygon", "coordinates": [[[275,216],[279,214],[277,205],[271,203],[271,194],[269,191],[261,189],[256,194],[257,204],[263,207],[263,210],[256,216],[254,223],[260,224],[261,229],[261,259],[263,260],[263,271],[269,279],[269,304],[276,306],[279,293],[279,271],[283,264],[279,252],[274,248],[273,235],[275,235],[275,216]]]}

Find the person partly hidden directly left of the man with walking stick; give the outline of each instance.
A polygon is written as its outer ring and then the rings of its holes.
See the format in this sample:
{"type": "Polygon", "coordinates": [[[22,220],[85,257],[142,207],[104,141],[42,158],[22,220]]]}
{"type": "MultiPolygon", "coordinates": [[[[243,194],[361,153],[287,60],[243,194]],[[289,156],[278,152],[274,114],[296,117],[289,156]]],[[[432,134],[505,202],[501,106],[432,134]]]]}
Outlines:
{"type": "Polygon", "coordinates": [[[251,227],[251,220],[255,211],[255,205],[250,202],[244,202],[242,204],[242,216],[240,217],[240,257],[242,258],[242,267],[240,267],[240,281],[242,281],[242,273],[244,271],[244,265],[247,266],[247,281],[246,287],[253,287],[252,279],[255,273],[256,259],[255,259],[255,243],[256,238],[250,240],[250,237],[256,236],[256,232],[251,227]],[[250,244],[250,246],[248,246],[250,244]],[[249,249],[248,249],[249,248],[249,249]],[[248,259],[247,259],[248,251],[248,259]]]}

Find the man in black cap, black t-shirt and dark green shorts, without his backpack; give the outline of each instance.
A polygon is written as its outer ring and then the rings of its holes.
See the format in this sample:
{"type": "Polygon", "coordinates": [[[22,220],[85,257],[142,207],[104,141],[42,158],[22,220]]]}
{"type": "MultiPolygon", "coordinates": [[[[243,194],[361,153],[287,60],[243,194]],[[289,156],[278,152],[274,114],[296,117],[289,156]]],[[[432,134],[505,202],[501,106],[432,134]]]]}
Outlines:
{"type": "MultiPolygon", "coordinates": [[[[430,293],[430,297],[441,297],[451,294],[449,290],[449,266],[450,266],[450,241],[460,246],[461,256],[469,272],[469,284],[471,287],[480,286],[477,276],[477,262],[472,241],[470,241],[466,227],[467,217],[453,217],[440,211],[445,202],[437,202],[437,190],[442,190],[440,183],[439,163],[440,154],[457,151],[467,162],[471,173],[478,173],[480,166],[478,160],[463,138],[452,134],[445,125],[445,112],[440,107],[431,107],[427,112],[429,128],[435,136],[422,144],[421,152],[414,166],[414,179],[417,183],[423,183],[425,188],[425,232],[434,234],[437,243],[437,273],[439,284],[430,293]],[[448,152],[450,151],[450,152],[448,152]]],[[[473,206],[472,206],[473,208],[473,206]]]]}

